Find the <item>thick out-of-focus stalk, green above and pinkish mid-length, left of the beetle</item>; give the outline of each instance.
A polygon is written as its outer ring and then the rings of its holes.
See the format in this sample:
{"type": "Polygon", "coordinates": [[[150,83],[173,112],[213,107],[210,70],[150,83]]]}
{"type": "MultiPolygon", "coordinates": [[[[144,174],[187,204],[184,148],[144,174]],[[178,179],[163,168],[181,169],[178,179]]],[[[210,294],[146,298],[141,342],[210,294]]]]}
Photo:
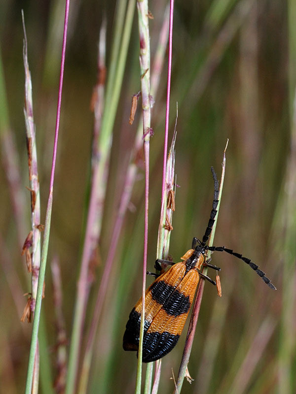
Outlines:
{"type": "Polygon", "coordinates": [[[92,189],[89,201],[87,224],[84,237],[84,245],[82,252],[81,267],[78,279],[77,294],[74,310],[73,332],[71,337],[69,369],[67,374],[66,394],[74,392],[80,344],[81,332],[84,324],[85,309],[88,298],[88,266],[100,238],[103,208],[105,201],[105,193],[107,187],[107,175],[109,171],[109,159],[112,143],[112,128],[115,120],[116,108],[119,100],[120,89],[123,79],[124,66],[126,64],[127,50],[130,41],[131,27],[133,22],[135,4],[133,0],[129,0],[124,31],[120,51],[118,54],[118,63],[116,66],[116,74],[113,85],[107,86],[106,97],[108,98],[108,89],[112,89],[110,102],[105,102],[105,110],[102,119],[101,131],[98,138],[97,152],[100,160],[93,168],[92,189]]]}

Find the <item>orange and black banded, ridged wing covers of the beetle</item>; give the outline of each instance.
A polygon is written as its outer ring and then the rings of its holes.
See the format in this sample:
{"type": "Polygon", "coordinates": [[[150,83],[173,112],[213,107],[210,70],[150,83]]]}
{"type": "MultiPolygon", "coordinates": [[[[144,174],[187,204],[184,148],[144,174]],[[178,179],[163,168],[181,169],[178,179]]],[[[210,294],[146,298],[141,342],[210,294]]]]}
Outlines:
{"type": "MultiPolygon", "coordinates": [[[[177,344],[199,281],[196,269],[184,262],[173,265],[146,290],[143,362],[161,359],[177,344]]],[[[129,315],[123,349],[139,348],[142,297],[129,315]]]]}

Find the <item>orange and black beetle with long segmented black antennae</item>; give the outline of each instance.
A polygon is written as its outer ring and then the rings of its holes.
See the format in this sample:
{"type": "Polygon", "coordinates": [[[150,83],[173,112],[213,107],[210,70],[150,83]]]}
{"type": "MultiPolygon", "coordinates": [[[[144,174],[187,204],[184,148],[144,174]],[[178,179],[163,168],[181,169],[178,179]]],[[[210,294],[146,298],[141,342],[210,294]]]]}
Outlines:
{"type": "MultiPolygon", "coordinates": [[[[211,252],[226,252],[242,260],[256,271],[270,289],[276,290],[270,279],[265,276],[265,273],[250,259],[224,246],[206,245],[213,229],[219,202],[219,182],[214,168],[211,167],[211,170],[214,178],[213,208],[202,241],[194,237],[191,249],[181,257],[180,263],[172,263],[161,259],[156,260],[155,268],[157,270],[161,270],[160,263],[172,265],[166,272],[160,275],[147,272],[155,276],[156,279],[148,287],[145,294],[143,362],[159,360],[176,346],[185,326],[200,278],[208,280],[216,286],[214,280],[200,272],[203,267],[213,268],[216,271],[221,270],[220,267],[210,264],[210,259],[206,260],[205,256],[208,250],[211,252]]],[[[129,315],[123,336],[124,350],[138,352],[141,310],[142,297],[129,315]]]]}

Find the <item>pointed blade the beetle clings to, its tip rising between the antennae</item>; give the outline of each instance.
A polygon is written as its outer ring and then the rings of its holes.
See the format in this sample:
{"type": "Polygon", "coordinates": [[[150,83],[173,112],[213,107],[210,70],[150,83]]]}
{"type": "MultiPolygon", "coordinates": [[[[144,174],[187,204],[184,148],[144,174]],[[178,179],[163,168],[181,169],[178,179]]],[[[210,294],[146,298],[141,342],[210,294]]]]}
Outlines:
{"type": "MultiPolygon", "coordinates": [[[[228,140],[227,140],[227,144],[228,144],[228,140]]],[[[223,182],[224,182],[224,175],[225,175],[225,164],[226,164],[225,152],[226,152],[227,144],[226,144],[226,147],[224,149],[224,154],[223,154],[222,175],[221,175],[221,182],[220,182],[220,189],[219,189],[219,203],[218,203],[218,207],[217,207],[217,215],[216,215],[215,223],[213,226],[213,230],[212,230],[210,238],[209,238],[209,246],[213,245],[215,230],[216,230],[217,220],[218,220],[218,215],[219,215],[223,182]]],[[[210,255],[211,255],[211,252],[208,251],[207,257],[209,258],[210,255]]],[[[207,274],[207,269],[203,269],[203,273],[207,274]]],[[[192,348],[195,328],[196,328],[196,324],[197,324],[197,320],[198,320],[198,315],[199,315],[201,299],[202,299],[202,295],[203,295],[203,291],[204,291],[204,286],[205,286],[205,280],[201,279],[199,282],[197,296],[195,299],[195,303],[193,306],[193,311],[192,311],[192,315],[191,315],[191,319],[190,319],[190,323],[189,323],[189,328],[188,328],[187,337],[186,337],[186,341],[185,341],[184,353],[183,353],[183,357],[182,357],[182,361],[181,361],[181,365],[180,365],[180,369],[179,369],[179,374],[178,374],[178,379],[177,379],[177,384],[176,384],[174,394],[181,393],[181,389],[182,389],[182,385],[183,385],[183,381],[184,381],[184,377],[185,377],[185,372],[186,372],[186,368],[187,368],[190,353],[191,353],[191,348],[192,348]]]]}

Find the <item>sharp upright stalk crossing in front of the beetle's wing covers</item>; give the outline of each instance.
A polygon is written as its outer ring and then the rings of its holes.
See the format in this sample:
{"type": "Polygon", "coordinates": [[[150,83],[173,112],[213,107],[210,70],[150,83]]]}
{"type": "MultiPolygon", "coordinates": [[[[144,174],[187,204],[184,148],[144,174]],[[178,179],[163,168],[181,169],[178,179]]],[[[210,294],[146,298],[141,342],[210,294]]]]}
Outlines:
{"type": "Polygon", "coordinates": [[[145,228],[144,228],[144,257],[143,257],[143,288],[142,288],[142,311],[140,341],[138,352],[138,368],[136,380],[136,393],[141,393],[142,380],[142,354],[145,321],[145,292],[147,271],[147,249],[148,249],[148,204],[149,204],[149,140],[150,140],[150,37],[148,24],[148,0],[138,0],[138,26],[140,38],[140,73],[142,93],[142,116],[143,116],[143,138],[145,157],[145,228]]]}

